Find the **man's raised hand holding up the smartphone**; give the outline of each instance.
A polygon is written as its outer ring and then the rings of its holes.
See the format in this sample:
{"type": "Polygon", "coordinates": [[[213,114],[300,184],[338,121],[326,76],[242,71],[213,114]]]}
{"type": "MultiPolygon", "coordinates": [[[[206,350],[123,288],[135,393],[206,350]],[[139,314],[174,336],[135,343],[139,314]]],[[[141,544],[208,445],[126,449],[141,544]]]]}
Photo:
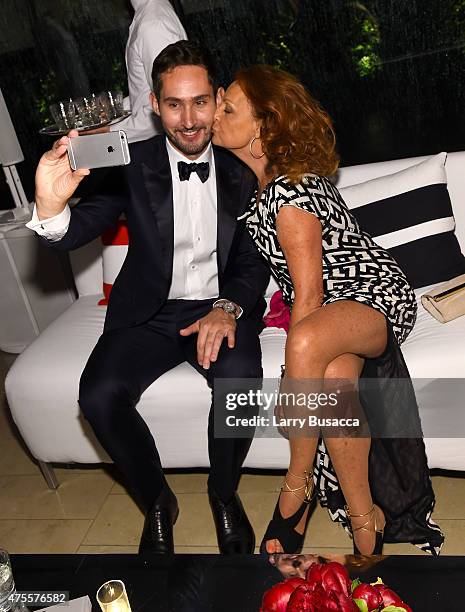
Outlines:
{"type": "Polygon", "coordinates": [[[50,151],[42,155],[36,170],[37,215],[40,220],[60,214],[82,179],[90,170],[80,168],[74,172],[69,165],[67,147],[70,138],[79,137],[77,130],[54,142],[50,151]]]}

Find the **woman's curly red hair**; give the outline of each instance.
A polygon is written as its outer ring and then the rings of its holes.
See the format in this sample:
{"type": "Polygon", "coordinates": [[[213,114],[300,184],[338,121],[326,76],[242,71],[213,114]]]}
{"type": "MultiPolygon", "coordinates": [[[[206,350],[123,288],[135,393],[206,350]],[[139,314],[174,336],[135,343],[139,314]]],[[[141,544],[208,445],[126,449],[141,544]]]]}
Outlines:
{"type": "Polygon", "coordinates": [[[261,120],[260,138],[271,173],[299,183],[307,173],[336,172],[339,156],[332,121],[294,76],[257,65],[239,70],[236,82],[261,120]]]}

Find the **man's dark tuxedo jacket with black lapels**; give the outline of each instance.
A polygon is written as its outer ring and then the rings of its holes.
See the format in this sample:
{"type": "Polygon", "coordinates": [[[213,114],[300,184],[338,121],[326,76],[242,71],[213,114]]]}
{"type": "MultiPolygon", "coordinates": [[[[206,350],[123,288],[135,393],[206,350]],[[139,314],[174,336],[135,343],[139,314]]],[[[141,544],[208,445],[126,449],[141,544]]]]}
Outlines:
{"type": "MultiPolygon", "coordinates": [[[[249,203],[254,180],[242,163],[214,147],[218,221],[219,297],[239,304],[244,318],[261,320],[269,270],[247,232],[237,221],[249,203]]],[[[131,145],[124,173],[126,191],[91,196],[71,210],[65,236],[50,246],[72,250],[90,242],[125,214],[129,249],[110,295],[105,330],[138,325],[165,303],[173,267],[173,187],[164,136],[131,145]]]]}

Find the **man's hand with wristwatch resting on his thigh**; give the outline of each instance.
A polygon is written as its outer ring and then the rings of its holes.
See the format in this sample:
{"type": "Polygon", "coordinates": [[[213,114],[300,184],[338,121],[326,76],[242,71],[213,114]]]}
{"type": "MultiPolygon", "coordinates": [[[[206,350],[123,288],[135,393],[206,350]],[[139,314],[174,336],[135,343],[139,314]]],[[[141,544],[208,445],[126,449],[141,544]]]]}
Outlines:
{"type": "Polygon", "coordinates": [[[208,370],[210,363],[216,361],[224,338],[228,339],[229,348],[234,348],[236,319],[234,315],[226,313],[222,308],[213,308],[205,317],[181,329],[179,333],[181,336],[199,334],[197,360],[199,365],[208,370]]]}

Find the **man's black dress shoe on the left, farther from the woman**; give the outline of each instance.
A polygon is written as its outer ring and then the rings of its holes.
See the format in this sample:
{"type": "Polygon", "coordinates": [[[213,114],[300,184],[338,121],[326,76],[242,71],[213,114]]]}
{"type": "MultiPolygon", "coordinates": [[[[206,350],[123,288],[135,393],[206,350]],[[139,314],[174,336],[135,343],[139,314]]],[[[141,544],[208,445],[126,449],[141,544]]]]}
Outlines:
{"type": "Polygon", "coordinates": [[[173,525],[176,523],[178,514],[176,497],[173,491],[165,486],[145,516],[139,554],[174,553],[173,525]]]}

